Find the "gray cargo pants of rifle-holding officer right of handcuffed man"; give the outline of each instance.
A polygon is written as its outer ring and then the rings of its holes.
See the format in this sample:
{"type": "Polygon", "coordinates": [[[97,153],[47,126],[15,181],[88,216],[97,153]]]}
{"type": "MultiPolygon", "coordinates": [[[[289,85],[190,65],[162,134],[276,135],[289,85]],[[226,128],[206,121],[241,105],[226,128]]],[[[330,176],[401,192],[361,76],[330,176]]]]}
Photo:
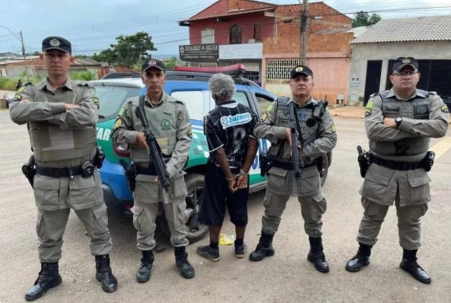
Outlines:
{"type": "Polygon", "coordinates": [[[322,236],[322,215],[327,208],[321,179],[316,167],[304,170],[300,182],[294,180],[293,171],[272,167],[269,170],[268,186],[263,206],[265,208],[262,231],[274,235],[279,227],[286,202],[297,196],[301,206],[305,233],[310,237],[322,236]]]}

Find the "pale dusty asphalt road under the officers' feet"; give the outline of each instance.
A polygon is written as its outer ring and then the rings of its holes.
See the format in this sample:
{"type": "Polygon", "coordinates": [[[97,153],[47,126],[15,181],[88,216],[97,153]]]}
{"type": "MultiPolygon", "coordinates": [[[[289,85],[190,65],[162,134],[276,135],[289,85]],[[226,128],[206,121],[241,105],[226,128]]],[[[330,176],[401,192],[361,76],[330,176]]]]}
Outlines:
{"type": "MultiPolygon", "coordinates": [[[[233,246],[221,246],[217,263],[199,257],[195,249],[208,237],[188,247],[196,277],[183,279],[174,264],[172,249],[155,255],[153,276],[138,284],[135,273],[140,253],[130,219],[110,210],[114,248],[112,268],[119,283],[113,294],[104,293],[94,278],[94,257],[88,237],[72,212],[64,236],[60,274],[63,284],[39,302],[451,302],[451,221],[449,214],[450,137],[432,140],[438,159],[429,176],[432,203],[423,218],[420,265],[432,276],[423,285],[399,269],[396,211],[390,209],[372,251],[371,264],[358,273],[345,271],[357,250],[356,233],[362,217],[358,189],[362,182],[356,145],[367,147],[362,119],[336,118],[338,144],[329,177],[323,186],[327,211],[323,217],[323,242],[330,273],[317,272],[306,260],[308,236],[303,230],[300,206],[291,199],[274,240],[276,254],[259,263],[237,259],[233,246]]],[[[35,235],[36,208],[28,181],[20,172],[30,155],[26,126],[13,124],[0,111],[0,302],[24,301],[40,270],[35,235]]],[[[255,248],[263,211],[263,192],[249,201],[250,223],[245,242],[255,248]]],[[[225,233],[233,233],[226,219],[225,233]]],[[[248,253],[249,253],[248,251],[248,253]]]]}

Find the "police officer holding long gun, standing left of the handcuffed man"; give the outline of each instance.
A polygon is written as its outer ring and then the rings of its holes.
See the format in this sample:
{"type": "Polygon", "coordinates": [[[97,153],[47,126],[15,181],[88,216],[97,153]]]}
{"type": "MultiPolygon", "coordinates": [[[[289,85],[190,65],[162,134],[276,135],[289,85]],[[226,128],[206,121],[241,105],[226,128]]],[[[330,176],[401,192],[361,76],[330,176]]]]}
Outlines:
{"type": "Polygon", "coordinates": [[[113,127],[113,143],[130,150],[136,169],[134,189],[133,224],[138,230],[137,247],[141,250],[141,266],[136,279],[140,283],[150,279],[155,248],[155,219],[158,202],[163,203],[166,219],[171,230],[171,244],[175,247],[175,260],[185,278],[194,277],[194,268],[188,262],[185,247],[187,239],[186,222],[189,219],[187,187],[183,171],[191,145],[191,120],[183,101],[163,91],[166,81],[165,63],[151,59],[142,65],[142,81],[147,94],[127,100],[119,111],[113,127]],[[141,105],[140,105],[141,104],[141,105]],[[156,171],[149,166],[149,146],[146,143],[143,126],[136,115],[136,107],[144,107],[149,127],[161,148],[163,161],[169,173],[170,191],[162,189],[156,171]]]}

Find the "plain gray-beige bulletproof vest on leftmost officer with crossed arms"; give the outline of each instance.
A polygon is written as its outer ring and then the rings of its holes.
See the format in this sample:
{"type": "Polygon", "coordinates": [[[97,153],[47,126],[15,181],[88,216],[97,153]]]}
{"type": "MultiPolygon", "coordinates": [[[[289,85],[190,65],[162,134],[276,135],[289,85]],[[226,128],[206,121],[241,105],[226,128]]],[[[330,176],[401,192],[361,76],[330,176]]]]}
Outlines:
{"type": "MultiPolygon", "coordinates": [[[[43,89],[36,89],[33,102],[64,102],[79,104],[81,94],[66,90],[64,94],[45,94],[43,89]]],[[[47,121],[28,123],[30,143],[37,161],[59,161],[83,158],[96,147],[95,125],[76,129],[61,129],[59,125],[47,121]]]]}

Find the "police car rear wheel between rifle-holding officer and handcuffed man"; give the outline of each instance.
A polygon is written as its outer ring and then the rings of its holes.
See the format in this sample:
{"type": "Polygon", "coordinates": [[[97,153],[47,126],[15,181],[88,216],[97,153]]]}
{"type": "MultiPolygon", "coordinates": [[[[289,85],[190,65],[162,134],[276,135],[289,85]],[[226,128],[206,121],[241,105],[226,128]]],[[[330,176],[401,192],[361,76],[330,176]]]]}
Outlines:
{"type": "MultiPolygon", "coordinates": [[[[195,243],[208,233],[208,226],[199,224],[199,207],[202,203],[202,192],[203,192],[203,175],[200,174],[190,174],[185,178],[187,184],[188,196],[185,199],[187,202],[187,209],[190,212],[190,218],[186,223],[187,238],[190,243],[195,243]]],[[[160,226],[161,231],[167,235],[171,236],[171,231],[169,230],[168,221],[165,215],[159,215],[157,217],[157,224],[160,226]]]]}

